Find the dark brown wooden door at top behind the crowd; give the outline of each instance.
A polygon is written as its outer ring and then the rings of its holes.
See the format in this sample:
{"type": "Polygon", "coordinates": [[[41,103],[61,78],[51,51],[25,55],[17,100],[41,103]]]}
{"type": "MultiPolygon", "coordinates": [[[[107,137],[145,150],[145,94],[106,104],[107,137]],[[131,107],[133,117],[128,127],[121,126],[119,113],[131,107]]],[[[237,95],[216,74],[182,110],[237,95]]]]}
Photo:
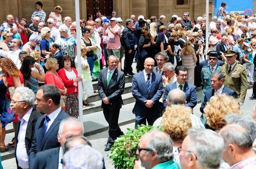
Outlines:
{"type": "Polygon", "coordinates": [[[110,16],[113,10],[113,0],[87,0],[87,15],[92,14],[96,18],[99,11],[101,15],[110,16]]]}

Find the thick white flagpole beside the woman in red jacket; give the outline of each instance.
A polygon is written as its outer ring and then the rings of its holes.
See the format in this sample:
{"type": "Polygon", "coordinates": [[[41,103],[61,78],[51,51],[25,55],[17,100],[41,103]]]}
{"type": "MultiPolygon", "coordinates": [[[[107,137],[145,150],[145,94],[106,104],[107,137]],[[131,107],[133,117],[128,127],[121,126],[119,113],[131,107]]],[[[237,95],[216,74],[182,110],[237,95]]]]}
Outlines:
{"type": "MultiPolygon", "coordinates": [[[[80,11],[79,0],[75,0],[76,7],[76,46],[77,46],[77,72],[78,76],[81,76],[81,42],[80,42],[80,11]]],[[[78,82],[78,101],[79,101],[79,121],[83,123],[83,101],[82,101],[82,82],[78,82]]]]}

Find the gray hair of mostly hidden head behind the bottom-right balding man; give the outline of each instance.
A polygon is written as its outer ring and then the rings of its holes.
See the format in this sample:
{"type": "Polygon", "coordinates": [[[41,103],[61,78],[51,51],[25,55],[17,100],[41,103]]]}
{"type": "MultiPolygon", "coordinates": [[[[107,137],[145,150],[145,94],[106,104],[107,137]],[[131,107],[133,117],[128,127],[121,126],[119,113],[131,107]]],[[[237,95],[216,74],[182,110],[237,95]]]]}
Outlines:
{"type": "Polygon", "coordinates": [[[245,117],[244,115],[240,114],[227,114],[224,117],[227,124],[239,124],[243,128],[247,129],[252,137],[252,140],[256,138],[256,122],[251,118],[245,117]]]}

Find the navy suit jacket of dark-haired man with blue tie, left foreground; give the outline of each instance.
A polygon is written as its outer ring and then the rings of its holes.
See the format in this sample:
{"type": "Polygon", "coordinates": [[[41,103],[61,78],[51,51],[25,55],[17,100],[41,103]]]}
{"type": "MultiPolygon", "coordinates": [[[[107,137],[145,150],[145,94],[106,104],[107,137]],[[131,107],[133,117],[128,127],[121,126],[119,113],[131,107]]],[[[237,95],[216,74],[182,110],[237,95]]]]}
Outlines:
{"type": "Polygon", "coordinates": [[[35,124],[35,135],[33,138],[32,146],[29,151],[29,166],[33,166],[33,159],[40,151],[59,147],[60,144],[57,139],[57,133],[59,131],[59,124],[63,119],[70,117],[65,111],[61,110],[52,125],[46,132],[41,144],[41,133],[44,126],[44,116],[40,117],[35,124]]]}

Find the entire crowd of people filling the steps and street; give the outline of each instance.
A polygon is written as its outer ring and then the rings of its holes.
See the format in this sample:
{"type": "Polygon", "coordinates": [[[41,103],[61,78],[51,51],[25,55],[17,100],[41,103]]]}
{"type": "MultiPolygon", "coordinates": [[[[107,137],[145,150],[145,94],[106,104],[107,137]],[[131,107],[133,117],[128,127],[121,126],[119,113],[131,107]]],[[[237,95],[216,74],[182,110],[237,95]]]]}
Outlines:
{"type": "Polygon", "coordinates": [[[88,97],[99,93],[109,151],[124,134],[118,117],[125,77],[132,77],[135,128],[163,128],[140,138],[134,169],[254,168],[256,115],[244,118],[240,106],[248,85],[253,85],[250,99],[256,99],[256,17],[227,15],[226,6],[223,2],[212,17],[209,32],[205,15],[194,20],[188,12],[173,15],[166,26],[164,15],[148,20],[140,15],[136,21],[132,14],[124,26],[116,11],[98,12],[81,19],[80,27],[69,16],[62,18],[59,5],[47,19],[36,2],[30,25],[8,14],[0,26],[1,152],[8,150],[5,127],[12,121],[15,135],[8,145],[15,147],[18,168],[105,168],[102,155],[82,136],[77,95],[83,93],[85,108],[88,97]],[[193,115],[198,88],[200,118],[193,115]],[[74,159],[75,154],[88,158],[74,159]]]}

